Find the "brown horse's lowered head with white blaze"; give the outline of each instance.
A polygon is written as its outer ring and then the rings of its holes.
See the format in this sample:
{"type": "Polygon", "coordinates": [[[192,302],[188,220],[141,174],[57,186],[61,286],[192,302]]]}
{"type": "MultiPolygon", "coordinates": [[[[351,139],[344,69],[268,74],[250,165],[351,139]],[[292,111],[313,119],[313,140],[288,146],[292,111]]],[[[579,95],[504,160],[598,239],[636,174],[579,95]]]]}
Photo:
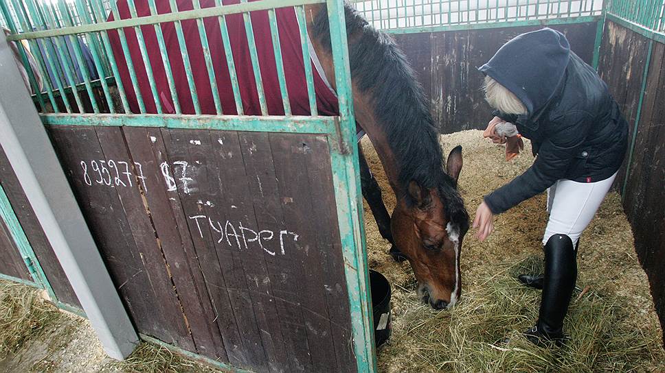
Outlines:
{"type": "Polygon", "coordinates": [[[458,194],[462,148],[448,156],[449,185],[426,189],[409,182],[392,219],[395,245],[409,258],[418,279],[418,296],[434,309],[455,304],[462,293],[460,252],[469,229],[469,215],[458,194]]]}

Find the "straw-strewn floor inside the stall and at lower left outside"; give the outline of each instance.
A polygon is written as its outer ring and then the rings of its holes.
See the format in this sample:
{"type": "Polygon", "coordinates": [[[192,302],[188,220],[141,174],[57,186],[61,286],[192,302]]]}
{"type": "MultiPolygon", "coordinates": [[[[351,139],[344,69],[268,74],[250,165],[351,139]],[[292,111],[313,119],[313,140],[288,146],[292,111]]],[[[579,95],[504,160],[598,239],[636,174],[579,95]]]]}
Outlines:
{"type": "MultiPolygon", "coordinates": [[[[462,145],[460,191],[471,218],[482,196],[508,182],[533,158],[529,144],[510,162],[503,147],[480,131],[442,136],[444,151],[462,145]]],[[[370,167],[394,206],[376,153],[363,141],[370,167]]],[[[393,335],[379,350],[379,371],[407,372],[665,372],[661,330],[644,271],[635,255],[620,197],[608,195],[587,228],[578,256],[579,278],[561,350],[536,348],[519,330],[537,317],[539,292],[521,287],[514,276],[541,267],[545,197],[523,202],[495,220],[484,243],[473,230],[462,250],[462,299],[452,310],[433,311],[418,302],[408,263],[394,263],[369,208],[365,226],[370,267],[392,283],[393,335]],[[497,341],[512,337],[508,345],[497,341]]],[[[0,373],[219,372],[142,344],[128,361],[106,358],[92,328],[80,317],[61,313],[38,291],[0,281],[0,373]]]]}

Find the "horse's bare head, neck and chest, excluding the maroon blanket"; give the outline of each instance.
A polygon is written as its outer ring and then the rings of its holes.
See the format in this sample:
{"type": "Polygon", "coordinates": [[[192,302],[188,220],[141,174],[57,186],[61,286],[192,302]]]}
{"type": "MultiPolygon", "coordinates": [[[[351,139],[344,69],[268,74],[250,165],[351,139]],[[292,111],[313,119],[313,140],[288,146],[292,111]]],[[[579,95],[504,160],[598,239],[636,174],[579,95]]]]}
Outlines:
{"type": "MultiPolygon", "coordinates": [[[[328,15],[323,5],[306,7],[308,29],[327,76],[334,76],[328,15]]],[[[438,131],[404,54],[387,34],[345,6],[356,121],[367,133],[395,193],[388,215],[379,184],[360,151],[363,197],[393,258],[403,254],[418,280],[418,295],[434,309],[453,306],[462,292],[460,253],[469,214],[457,190],[462,147],[442,168],[438,131]]]]}

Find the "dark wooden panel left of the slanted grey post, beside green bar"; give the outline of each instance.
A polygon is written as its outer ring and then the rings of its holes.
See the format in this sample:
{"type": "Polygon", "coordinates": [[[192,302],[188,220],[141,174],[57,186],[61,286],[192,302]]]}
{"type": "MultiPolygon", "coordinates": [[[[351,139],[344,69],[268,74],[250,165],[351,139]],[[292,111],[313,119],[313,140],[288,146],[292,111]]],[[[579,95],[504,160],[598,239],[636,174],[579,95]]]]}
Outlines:
{"type": "MultiPolygon", "coordinates": [[[[34,250],[37,260],[41,264],[56,297],[60,302],[80,309],[80,303],[78,302],[78,298],[76,298],[76,293],[74,293],[74,289],[69,285],[69,280],[67,280],[65,271],[63,271],[63,267],[60,266],[60,262],[58,261],[56,254],[53,252],[53,248],[51,247],[46,234],[42,230],[41,224],[39,224],[37,217],[34,215],[34,210],[32,210],[30,202],[28,202],[25,193],[23,193],[23,188],[21,187],[19,180],[16,178],[14,169],[12,169],[12,165],[10,165],[7,156],[5,156],[5,152],[1,147],[0,184],[3,187],[10,204],[12,204],[16,219],[19,219],[23,232],[25,232],[25,237],[27,237],[27,241],[30,242],[32,250],[34,250]]],[[[0,235],[2,235],[2,233],[0,233],[0,235]]],[[[8,238],[11,239],[11,236],[8,238]]],[[[12,245],[14,245],[13,240],[12,245]]],[[[21,260],[20,256],[19,260],[21,260]]],[[[22,266],[21,271],[23,271],[25,265],[23,265],[22,261],[20,265],[22,266]]],[[[0,272],[3,271],[0,269],[0,272]]],[[[25,273],[27,273],[27,269],[25,270],[25,273]]],[[[23,278],[22,276],[16,277],[23,278]]],[[[28,275],[27,279],[32,280],[30,275],[28,275]]]]}

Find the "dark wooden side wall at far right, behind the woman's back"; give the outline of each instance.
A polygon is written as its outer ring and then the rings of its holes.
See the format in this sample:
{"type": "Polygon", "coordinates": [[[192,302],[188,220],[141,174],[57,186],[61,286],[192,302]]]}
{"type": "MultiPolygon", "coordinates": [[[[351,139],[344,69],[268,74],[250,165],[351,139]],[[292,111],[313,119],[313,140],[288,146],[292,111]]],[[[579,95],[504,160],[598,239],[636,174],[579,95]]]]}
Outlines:
{"type": "MultiPolygon", "coordinates": [[[[635,119],[649,40],[607,21],[600,49],[599,72],[629,120],[629,139],[635,119]]],[[[623,194],[624,210],[635,237],[635,250],[646,270],[660,322],[665,329],[665,45],[653,43],[649,71],[630,173],[623,194]]],[[[628,156],[619,171],[616,187],[622,190],[628,156]]]]}

